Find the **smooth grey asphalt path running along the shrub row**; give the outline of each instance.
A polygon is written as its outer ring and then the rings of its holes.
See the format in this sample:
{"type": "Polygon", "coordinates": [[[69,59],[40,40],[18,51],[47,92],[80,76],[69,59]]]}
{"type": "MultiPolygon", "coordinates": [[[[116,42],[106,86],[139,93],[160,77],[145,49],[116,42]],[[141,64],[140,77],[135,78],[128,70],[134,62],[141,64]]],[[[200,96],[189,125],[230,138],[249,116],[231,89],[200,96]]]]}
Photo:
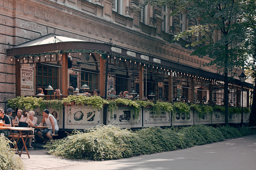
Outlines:
{"type": "Polygon", "coordinates": [[[152,155],[110,161],[89,161],[83,165],[72,165],[61,169],[256,170],[256,135],[152,155]]]}

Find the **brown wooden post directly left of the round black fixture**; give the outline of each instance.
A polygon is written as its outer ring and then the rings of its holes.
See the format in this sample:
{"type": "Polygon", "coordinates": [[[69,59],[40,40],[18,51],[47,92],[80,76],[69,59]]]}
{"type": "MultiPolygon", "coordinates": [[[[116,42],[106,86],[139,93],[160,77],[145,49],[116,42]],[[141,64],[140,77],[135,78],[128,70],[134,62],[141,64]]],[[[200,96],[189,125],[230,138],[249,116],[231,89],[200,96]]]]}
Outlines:
{"type": "Polygon", "coordinates": [[[62,95],[68,95],[67,89],[69,88],[69,82],[68,82],[68,71],[67,71],[67,55],[68,53],[64,53],[62,55],[62,95]]]}

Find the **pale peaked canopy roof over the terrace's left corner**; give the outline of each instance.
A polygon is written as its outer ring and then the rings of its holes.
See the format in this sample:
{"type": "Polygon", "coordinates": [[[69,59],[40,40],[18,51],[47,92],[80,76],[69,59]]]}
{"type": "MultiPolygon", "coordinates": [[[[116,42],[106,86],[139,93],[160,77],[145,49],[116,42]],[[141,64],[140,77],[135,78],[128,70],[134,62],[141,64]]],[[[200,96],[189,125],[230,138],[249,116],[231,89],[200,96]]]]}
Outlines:
{"type": "Polygon", "coordinates": [[[43,44],[50,44],[50,43],[72,42],[72,41],[83,41],[83,40],[68,38],[61,35],[50,33],[42,37],[36,38],[34,40],[30,40],[25,43],[19,44],[18,46],[15,46],[15,48],[43,45],[43,44]]]}

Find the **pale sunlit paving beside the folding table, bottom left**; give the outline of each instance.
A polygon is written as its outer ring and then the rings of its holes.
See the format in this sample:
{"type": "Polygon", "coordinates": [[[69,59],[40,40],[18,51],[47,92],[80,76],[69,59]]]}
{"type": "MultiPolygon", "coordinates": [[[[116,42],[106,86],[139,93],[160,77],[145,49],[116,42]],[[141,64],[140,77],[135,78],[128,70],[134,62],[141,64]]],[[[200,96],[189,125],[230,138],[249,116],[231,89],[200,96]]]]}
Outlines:
{"type": "MultiPolygon", "coordinates": [[[[26,151],[25,151],[26,152],[26,151]]],[[[94,162],[91,160],[79,159],[63,159],[57,156],[46,153],[45,149],[29,150],[30,159],[26,154],[21,155],[21,160],[25,163],[27,170],[54,170],[68,168],[72,166],[84,165],[86,163],[94,162]]]]}

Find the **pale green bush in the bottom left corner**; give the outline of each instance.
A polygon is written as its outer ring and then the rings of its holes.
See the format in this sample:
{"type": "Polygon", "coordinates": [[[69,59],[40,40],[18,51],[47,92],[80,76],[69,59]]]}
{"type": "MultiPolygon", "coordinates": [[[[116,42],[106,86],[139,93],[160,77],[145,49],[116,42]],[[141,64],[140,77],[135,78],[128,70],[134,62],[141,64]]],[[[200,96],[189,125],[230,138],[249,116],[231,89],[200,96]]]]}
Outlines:
{"type": "Polygon", "coordinates": [[[20,157],[15,154],[14,149],[10,147],[9,143],[12,142],[0,135],[0,169],[25,170],[24,163],[20,157]]]}

